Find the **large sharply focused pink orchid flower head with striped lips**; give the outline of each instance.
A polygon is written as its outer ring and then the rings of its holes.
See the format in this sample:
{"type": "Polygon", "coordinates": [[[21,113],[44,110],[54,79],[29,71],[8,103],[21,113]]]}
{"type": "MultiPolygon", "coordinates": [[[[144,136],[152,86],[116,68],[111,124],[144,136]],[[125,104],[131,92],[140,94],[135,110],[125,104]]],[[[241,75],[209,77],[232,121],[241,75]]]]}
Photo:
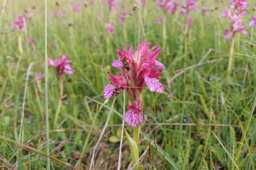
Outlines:
{"type": "Polygon", "coordinates": [[[104,98],[109,99],[112,96],[118,96],[126,89],[132,102],[131,105],[127,106],[130,111],[126,112],[125,122],[133,128],[143,121],[141,93],[145,84],[150,91],[164,92],[158,78],[165,67],[161,62],[155,60],[161,49],[155,45],[149,50],[150,45],[151,43],[146,43],[143,40],[135,54],[132,46],[128,52],[126,52],[126,47],[123,48],[124,51],[118,49],[120,60],[114,60],[112,65],[121,68],[121,75],[116,72],[116,77],[107,73],[114,85],[107,84],[104,89],[104,98]]]}

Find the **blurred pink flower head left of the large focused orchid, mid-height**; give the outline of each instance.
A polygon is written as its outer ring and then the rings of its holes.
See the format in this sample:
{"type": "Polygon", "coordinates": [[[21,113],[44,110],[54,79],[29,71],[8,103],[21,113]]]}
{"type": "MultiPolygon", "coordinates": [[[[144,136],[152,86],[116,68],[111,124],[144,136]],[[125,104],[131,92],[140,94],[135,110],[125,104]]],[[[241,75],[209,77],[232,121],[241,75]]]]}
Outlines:
{"type": "Polygon", "coordinates": [[[49,66],[52,65],[52,66],[56,67],[56,71],[57,71],[59,77],[63,77],[64,73],[73,74],[74,71],[71,68],[71,65],[66,64],[66,63],[71,63],[71,60],[67,60],[67,59],[68,59],[67,55],[62,55],[61,59],[56,58],[55,62],[52,59],[48,59],[48,65],[49,66]]]}

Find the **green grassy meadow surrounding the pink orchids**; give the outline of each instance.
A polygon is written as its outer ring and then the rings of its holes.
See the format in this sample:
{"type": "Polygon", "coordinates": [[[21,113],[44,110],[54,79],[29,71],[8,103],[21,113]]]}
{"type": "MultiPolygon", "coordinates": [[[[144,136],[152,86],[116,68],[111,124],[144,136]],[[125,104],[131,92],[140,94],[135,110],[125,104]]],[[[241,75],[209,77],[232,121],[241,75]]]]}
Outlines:
{"type": "Polygon", "coordinates": [[[230,1],[198,0],[188,27],[181,6],[165,13],[153,0],[118,1],[114,10],[106,0],[76,0],[80,12],[73,0],[48,0],[47,8],[43,0],[0,0],[0,169],[49,169],[47,159],[50,169],[132,169],[122,130],[133,137],[123,122],[131,102],[125,91],[110,99],[103,94],[111,84],[107,72],[121,72],[112,67],[116,49],[136,51],[143,39],[150,48],[159,45],[157,60],[166,69],[159,77],[165,93],[142,91],[140,168],[256,169],[256,28],[248,26],[256,1],[247,0],[242,20],[249,35],[236,33],[228,73],[231,39],[222,32],[230,22],[218,16],[230,1]],[[27,29],[14,30],[13,21],[25,13],[33,13],[27,29]],[[118,20],[121,13],[125,20],[118,20]],[[165,21],[154,23],[162,16],[165,21]],[[46,83],[37,79],[45,74],[46,47],[47,57],[66,54],[72,61],[61,102],[54,67],[48,67],[47,100],[46,83]]]}

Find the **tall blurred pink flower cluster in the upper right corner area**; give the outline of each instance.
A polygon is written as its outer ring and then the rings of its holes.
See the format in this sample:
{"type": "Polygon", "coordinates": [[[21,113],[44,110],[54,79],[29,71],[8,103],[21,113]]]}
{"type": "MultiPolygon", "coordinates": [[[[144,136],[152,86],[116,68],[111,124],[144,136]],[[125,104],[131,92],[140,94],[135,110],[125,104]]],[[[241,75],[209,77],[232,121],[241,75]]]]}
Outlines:
{"type": "Polygon", "coordinates": [[[249,35],[245,29],[247,26],[242,26],[243,21],[241,16],[246,16],[245,11],[247,10],[248,4],[245,0],[233,0],[229,3],[229,9],[224,9],[223,14],[220,14],[219,17],[229,18],[231,23],[231,29],[226,29],[223,31],[224,38],[229,39],[235,36],[235,33],[243,33],[249,35]]]}

